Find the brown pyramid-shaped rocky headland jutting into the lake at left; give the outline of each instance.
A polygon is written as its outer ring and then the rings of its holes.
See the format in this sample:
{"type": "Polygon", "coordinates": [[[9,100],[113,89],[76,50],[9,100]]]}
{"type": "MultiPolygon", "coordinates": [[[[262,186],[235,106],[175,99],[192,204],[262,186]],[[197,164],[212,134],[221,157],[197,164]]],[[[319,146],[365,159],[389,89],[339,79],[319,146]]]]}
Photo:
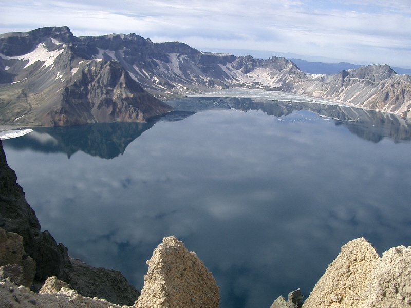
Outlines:
{"type": "Polygon", "coordinates": [[[146,122],[172,108],[148,94],[118,62],[89,62],[81,78],[65,86],[61,104],[44,115],[46,126],[94,122],[146,122]],[[46,123],[47,118],[49,123],[46,123]]]}

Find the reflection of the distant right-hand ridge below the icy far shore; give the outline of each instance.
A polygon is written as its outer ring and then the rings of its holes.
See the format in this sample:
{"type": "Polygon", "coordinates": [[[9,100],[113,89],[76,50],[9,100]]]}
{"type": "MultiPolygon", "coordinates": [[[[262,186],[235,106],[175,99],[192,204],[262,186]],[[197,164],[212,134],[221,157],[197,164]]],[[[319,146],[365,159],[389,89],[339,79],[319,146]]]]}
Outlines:
{"type": "Polygon", "coordinates": [[[322,117],[331,118],[335,120],[335,125],[343,125],[360,138],[372,142],[379,142],[385,137],[396,142],[411,140],[411,122],[408,119],[391,113],[348,106],[235,97],[196,97],[195,99],[171,100],[168,103],[176,110],[196,112],[210,108],[261,110],[277,118],[286,117],[293,111],[308,110],[322,117]]]}

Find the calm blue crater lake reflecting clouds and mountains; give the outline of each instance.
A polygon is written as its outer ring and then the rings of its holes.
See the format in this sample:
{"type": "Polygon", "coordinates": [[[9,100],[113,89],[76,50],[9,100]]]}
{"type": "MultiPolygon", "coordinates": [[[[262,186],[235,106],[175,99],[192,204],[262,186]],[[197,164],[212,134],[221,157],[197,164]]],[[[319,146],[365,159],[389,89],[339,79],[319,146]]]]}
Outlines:
{"type": "Polygon", "coordinates": [[[175,235],[213,272],[221,308],[269,308],[296,288],[306,298],[349,240],[380,255],[411,245],[410,121],[281,98],[173,100],[150,123],[3,144],[42,230],[72,257],[141,289],[175,235]]]}

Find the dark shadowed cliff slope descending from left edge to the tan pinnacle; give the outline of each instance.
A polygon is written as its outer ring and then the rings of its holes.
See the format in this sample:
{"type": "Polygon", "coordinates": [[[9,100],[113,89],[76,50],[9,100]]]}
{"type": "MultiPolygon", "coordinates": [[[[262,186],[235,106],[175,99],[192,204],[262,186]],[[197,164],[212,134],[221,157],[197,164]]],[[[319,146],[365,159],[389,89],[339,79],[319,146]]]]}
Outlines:
{"type": "Polygon", "coordinates": [[[23,189],[16,180],[15,172],[7,165],[0,141],[0,262],[2,252],[8,256],[3,258],[4,262],[0,266],[6,263],[21,265],[24,281],[28,281],[30,266],[34,266],[30,263],[32,258],[35,261],[35,276],[31,286],[34,291],[40,290],[48,277],[56,276],[75,285],[80,294],[104,298],[116,304],[132,305],[140,293],[120,272],[91,267],[69,259],[63,244],[58,245],[48,231],[40,231],[34,210],[27,203],[23,189]],[[20,250],[17,249],[18,239],[23,243],[20,250]],[[11,255],[16,255],[12,260],[7,254],[10,251],[14,252],[11,255]]]}

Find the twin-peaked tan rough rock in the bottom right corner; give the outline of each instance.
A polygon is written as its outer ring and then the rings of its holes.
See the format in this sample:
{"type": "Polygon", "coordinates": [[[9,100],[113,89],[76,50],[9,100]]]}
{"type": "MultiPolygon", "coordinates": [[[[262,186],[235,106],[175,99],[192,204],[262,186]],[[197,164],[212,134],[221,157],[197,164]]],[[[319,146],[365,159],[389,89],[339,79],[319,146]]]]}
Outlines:
{"type": "Polygon", "coordinates": [[[315,285],[303,308],[411,305],[411,247],[380,258],[364,238],[348,242],[315,285]]]}

